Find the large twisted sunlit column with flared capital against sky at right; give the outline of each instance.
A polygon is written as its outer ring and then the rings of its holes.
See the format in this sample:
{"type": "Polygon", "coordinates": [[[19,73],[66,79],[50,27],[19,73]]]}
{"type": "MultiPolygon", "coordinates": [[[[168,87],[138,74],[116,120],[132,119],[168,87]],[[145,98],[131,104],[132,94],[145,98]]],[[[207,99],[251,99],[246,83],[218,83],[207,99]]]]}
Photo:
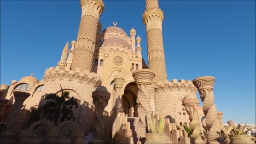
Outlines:
{"type": "Polygon", "coordinates": [[[205,113],[206,116],[207,143],[224,143],[224,140],[219,136],[220,122],[218,119],[217,108],[214,105],[214,82],[215,79],[212,76],[198,77],[193,80],[203,102],[203,113],[205,113]]]}

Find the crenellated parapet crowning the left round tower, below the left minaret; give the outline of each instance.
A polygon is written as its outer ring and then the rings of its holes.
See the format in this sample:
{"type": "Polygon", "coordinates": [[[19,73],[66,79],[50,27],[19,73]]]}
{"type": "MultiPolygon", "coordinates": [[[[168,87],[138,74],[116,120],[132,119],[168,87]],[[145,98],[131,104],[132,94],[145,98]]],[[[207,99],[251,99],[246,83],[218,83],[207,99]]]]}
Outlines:
{"type": "Polygon", "coordinates": [[[45,70],[44,73],[44,81],[75,81],[79,83],[86,83],[88,85],[92,85],[94,87],[98,87],[101,85],[101,78],[97,76],[95,73],[90,73],[90,71],[75,71],[75,70],[63,70],[63,69],[55,69],[51,67],[45,70]]]}

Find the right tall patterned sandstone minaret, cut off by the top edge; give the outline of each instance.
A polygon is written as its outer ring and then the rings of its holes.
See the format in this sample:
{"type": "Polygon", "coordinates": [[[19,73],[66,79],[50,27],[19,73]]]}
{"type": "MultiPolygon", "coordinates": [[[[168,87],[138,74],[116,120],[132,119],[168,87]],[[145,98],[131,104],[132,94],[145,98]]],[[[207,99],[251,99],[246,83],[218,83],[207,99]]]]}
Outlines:
{"type": "Polygon", "coordinates": [[[155,72],[155,82],[167,79],[162,43],[162,20],[164,14],[158,7],[158,0],[146,0],[143,22],[147,32],[148,67],[155,72]]]}

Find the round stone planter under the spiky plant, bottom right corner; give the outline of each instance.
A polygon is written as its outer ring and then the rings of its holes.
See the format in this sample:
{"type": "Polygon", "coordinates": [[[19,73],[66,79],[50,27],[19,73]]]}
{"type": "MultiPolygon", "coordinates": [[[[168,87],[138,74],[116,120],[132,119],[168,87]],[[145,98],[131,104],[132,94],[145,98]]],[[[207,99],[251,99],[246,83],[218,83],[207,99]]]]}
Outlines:
{"type": "Polygon", "coordinates": [[[230,144],[255,144],[249,135],[229,135],[230,144]]]}

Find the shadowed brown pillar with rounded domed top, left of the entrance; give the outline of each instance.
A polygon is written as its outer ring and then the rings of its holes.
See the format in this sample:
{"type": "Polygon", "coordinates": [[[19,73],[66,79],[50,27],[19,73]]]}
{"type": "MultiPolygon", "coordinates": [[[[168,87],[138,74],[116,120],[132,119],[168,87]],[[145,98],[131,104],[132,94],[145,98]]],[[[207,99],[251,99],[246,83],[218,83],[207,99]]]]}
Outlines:
{"type": "Polygon", "coordinates": [[[103,112],[105,107],[108,105],[110,99],[110,93],[106,87],[97,87],[95,92],[92,92],[93,103],[96,108],[96,121],[95,128],[93,131],[93,140],[90,143],[104,143],[105,137],[105,123],[103,112]]]}

